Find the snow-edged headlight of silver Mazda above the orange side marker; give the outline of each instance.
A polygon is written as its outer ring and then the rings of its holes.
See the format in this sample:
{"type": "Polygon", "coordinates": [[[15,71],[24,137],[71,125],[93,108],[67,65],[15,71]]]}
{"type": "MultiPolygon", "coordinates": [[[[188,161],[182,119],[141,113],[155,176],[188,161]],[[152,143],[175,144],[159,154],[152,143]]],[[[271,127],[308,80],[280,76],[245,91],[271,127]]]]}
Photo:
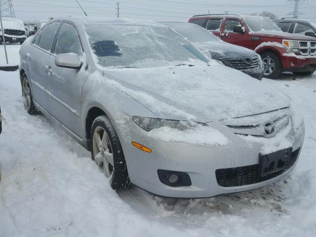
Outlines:
{"type": "Polygon", "coordinates": [[[205,123],[183,120],[170,120],[161,118],[146,118],[133,116],[133,121],[145,131],[149,132],[160,127],[171,127],[178,130],[186,130],[197,125],[207,126],[205,123]]]}

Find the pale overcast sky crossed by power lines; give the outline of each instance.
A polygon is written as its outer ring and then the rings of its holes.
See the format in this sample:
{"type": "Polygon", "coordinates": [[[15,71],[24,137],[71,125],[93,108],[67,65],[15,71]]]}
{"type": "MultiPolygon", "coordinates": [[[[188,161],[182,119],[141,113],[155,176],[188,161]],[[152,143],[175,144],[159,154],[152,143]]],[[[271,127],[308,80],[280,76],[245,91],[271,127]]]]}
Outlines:
{"type": "MultiPolygon", "coordinates": [[[[151,19],[155,21],[188,21],[195,14],[240,13],[271,11],[285,17],[294,6],[286,0],[78,0],[88,16],[151,19]]],[[[303,0],[301,0],[303,1],[303,0]]],[[[47,20],[57,16],[83,16],[76,0],[12,0],[16,18],[47,20]]],[[[301,18],[316,17],[316,0],[300,4],[301,18]]],[[[288,16],[289,17],[289,16],[288,16]]]]}

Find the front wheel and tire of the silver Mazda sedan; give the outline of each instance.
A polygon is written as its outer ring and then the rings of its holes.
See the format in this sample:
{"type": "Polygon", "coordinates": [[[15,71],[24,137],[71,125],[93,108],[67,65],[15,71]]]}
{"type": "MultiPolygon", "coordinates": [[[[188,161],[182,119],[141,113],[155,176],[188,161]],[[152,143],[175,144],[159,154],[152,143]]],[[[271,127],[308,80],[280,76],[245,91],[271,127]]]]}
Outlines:
{"type": "Polygon", "coordinates": [[[110,119],[103,115],[94,119],[91,128],[91,157],[103,167],[113,190],[125,190],[133,186],[128,177],[123,150],[110,119]],[[99,141],[99,142],[97,142],[99,141]]]}

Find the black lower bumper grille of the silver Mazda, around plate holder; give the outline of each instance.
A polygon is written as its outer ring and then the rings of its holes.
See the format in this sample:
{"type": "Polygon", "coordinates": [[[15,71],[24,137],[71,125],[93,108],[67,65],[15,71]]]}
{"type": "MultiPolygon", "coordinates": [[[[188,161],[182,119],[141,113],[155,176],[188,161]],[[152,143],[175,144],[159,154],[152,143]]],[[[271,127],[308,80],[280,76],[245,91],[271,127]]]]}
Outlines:
{"type": "MultiPolygon", "coordinates": [[[[292,152],[289,168],[295,164],[299,153],[300,148],[292,152]]],[[[238,187],[256,184],[275,178],[289,169],[278,170],[266,176],[260,176],[258,166],[259,164],[254,164],[237,168],[217,169],[215,171],[217,183],[222,187],[238,187]]]]}

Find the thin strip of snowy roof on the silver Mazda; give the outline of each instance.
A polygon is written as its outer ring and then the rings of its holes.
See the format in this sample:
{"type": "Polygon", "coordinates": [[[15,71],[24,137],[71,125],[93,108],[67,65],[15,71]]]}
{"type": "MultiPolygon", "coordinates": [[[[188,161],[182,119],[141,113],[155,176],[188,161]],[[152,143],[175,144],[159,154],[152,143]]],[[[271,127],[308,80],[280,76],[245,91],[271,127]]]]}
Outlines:
{"type": "Polygon", "coordinates": [[[166,27],[151,20],[138,20],[129,18],[107,18],[107,17],[56,17],[55,20],[68,20],[78,25],[140,25],[166,27]]]}

